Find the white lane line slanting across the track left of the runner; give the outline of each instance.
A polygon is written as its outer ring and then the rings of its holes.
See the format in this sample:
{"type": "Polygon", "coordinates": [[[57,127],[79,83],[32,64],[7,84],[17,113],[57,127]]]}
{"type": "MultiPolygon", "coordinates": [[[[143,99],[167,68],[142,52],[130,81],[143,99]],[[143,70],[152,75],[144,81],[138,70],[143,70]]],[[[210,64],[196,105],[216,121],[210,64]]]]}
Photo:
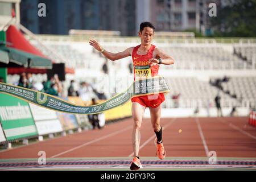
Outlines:
{"type": "Polygon", "coordinates": [[[90,141],[90,142],[86,142],[86,143],[84,143],[84,144],[81,144],[80,146],[73,147],[73,148],[71,148],[71,149],[69,149],[69,150],[66,150],[66,151],[61,152],[61,153],[56,154],[56,155],[53,155],[53,156],[51,156],[50,158],[56,158],[57,156],[60,156],[60,155],[63,155],[63,154],[67,154],[68,152],[77,150],[78,148],[81,148],[81,147],[84,147],[84,146],[88,146],[89,144],[92,144],[92,143],[94,143],[94,142],[98,142],[98,141],[100,141],[100,140],[103,140],[103,139],[112,137],[112,136],[114,136],[114,135],[117,135],[117,134],[119,134],[119,133],[122,133],[123,131],[126,131],[126,130],[131,129],[132,127],[133,127],[133,126],[128,126],[128,127],[124,128],[124,129],[122,129],[122,130],[118,130],[118,131],[115,131],[114,133],[105,135],[104,137],[100,137],[100,138],[94,139],[94,140],[92,140],[92,141],[90,141]]]}

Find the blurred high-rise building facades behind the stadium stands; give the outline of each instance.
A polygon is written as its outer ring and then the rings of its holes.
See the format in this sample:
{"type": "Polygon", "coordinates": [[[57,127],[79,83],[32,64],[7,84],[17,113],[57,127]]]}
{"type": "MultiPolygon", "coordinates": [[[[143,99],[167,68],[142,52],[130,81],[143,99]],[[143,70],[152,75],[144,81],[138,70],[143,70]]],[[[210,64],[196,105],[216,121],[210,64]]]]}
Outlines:
{"type": "Polygon", "coordinates": [[[156,31],[210,30],[209,3],[220,0],[22,0],[21,23],[36,34],[68,34],[70,29],[120,31],[136,36],[139,24],[152,22],[156,31]]]}

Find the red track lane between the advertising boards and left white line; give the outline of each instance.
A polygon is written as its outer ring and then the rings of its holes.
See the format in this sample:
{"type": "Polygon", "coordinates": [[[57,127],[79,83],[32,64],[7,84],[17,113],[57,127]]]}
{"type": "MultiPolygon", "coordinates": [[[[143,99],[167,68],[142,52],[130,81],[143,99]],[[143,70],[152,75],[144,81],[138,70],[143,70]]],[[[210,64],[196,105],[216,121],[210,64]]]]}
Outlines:
{"type": "MultiPolygon", "coordinates": [[[[82,133],[76,133],[73,135],[67,135],[67,137],[60,137],[50,140],[45,140],[43,142],[38,142],[21,148],[14,148],[12,150],[7,150],[0,152],[0,159],[8,158],[38,158],[39,151],[45,151],[47,158],[60,154],[61,152],[70,150],[71,148],[80,146],[86,142],[90,142],[94,139],[98,139],[102,136],[112,134],[115,131],[124,129],[132,125],[131,119],[125,119],[122,122],[112,123],[107,125],[102,130],[89,130],[83,131],[82,133]]],[[[128,145],[128,144],[127,144],[128,145]]],[[[84,154],[87,151],[85,149],[82,151],[84,154]]],[[[76,152],[76,151],[74,151],[76,152]]],[[[97,152],[97,151],[92,151],[97,152]]],[[[101,154],[103,151],[101,151],[101,154]]],[[[81,154],[76,154],[81,156],[81,154]]],[[[69,157],[75,158],[76,155],[69,155],[69,157]]],[[[83,155],[86,157],[86,155],[83,155]]],[[[60,156],[59,156],[60,157],[60,156]]]]}

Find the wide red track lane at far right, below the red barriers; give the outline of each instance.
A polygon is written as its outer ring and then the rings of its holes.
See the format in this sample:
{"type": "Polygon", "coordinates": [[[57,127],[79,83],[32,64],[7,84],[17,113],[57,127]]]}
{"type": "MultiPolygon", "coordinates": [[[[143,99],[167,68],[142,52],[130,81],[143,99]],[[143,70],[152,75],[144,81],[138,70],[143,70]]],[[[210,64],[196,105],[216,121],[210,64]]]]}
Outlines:
{"type": "Polygon", "coordinates": [[[241,131],[230,127],[234,123],[241,127],[241,130],[256,137],[254,131],[243,126],[247,118],[200,118],[200,124],[204,133],[209,151],[216,151],[217,157],[256,157],[256,138],[251,138],[241,131]]]}

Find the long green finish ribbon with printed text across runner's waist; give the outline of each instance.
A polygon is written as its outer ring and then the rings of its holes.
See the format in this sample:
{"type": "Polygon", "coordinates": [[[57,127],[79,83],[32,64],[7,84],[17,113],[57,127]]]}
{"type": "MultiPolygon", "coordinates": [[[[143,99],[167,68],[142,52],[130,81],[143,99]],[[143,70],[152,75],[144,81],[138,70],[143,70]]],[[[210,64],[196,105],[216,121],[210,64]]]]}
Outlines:
{"type": "Polygon", "coordinates": [[[125,90],[125,92],[117,94],[108,101],[93,106],[77,106],[59,97],[19,86],[4,84],[2,82],[0,82],[0,92],[10,94],[11,96],[18,97],[24,101],[31,102],[32,104],[63,113],[96,114],[121,106],[132,97],[167,93],[170,92],[170,90],[162,76],[144,78],[134,81],[133,84],[125,90]]]}

